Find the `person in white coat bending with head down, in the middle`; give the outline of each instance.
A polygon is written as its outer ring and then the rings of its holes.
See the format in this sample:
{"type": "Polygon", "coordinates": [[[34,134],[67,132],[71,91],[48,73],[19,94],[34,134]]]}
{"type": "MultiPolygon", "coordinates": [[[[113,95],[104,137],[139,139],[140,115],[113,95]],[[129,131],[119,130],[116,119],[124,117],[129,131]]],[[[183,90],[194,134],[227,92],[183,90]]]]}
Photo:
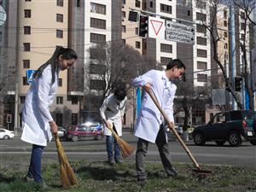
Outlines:
{"type": "Polygon", "coordinates": [[[113,127],[119,137],[122,136],[122,124],[125,114],[127,97],[125,84],[116,88],[113,94],[109,95],[100,108],[101,117],[104,121],[104,135],[106,136],[106,147],[108,153],[108,164],[122,163],[120,148],[108,127],[113,127]],[[114,154],[113,154],[114,150],[114,154]]]}

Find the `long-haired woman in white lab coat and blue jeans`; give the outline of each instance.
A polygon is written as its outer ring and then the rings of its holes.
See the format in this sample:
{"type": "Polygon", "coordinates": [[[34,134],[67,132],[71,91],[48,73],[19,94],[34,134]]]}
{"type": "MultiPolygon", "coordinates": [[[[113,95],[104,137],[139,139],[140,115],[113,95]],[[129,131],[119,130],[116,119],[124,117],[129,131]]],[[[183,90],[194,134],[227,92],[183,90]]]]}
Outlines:
{"type": "Polygon", "coordinates": [[[42,183],[41,155],[52,133],[58,130],[49,113],[55,99],[60,70],[71,67],[78,56],[73,49],[57,47],[54,55],[33,74],[33,81],[27,91],[22,109],[23,132],[21,140],[32,144],[32,154],[26,181],[42,183]]]}

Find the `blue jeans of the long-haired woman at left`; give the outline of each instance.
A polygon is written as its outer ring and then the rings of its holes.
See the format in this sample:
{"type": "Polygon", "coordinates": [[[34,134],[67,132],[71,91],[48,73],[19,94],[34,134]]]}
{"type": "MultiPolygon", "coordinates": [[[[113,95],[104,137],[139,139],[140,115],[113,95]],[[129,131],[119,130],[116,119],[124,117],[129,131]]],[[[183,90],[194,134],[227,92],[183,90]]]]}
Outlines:
{"type": "Polygon", "coordinates": [[[33,144],[30,166],[27,172],[27,177],[33,178],[37,183],[43,182],[43,178],[41,177],[41,156],[43,150],[44,146],[33,144]]]}

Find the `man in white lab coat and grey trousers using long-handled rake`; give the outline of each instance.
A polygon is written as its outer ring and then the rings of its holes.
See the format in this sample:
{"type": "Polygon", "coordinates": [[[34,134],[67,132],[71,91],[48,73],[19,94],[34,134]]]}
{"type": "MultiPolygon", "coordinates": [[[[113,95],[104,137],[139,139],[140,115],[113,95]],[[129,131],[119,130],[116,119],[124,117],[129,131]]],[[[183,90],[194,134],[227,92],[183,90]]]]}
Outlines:
{"type": "MultiPolygon", "coordinates": [[[[143,86],[147,91],[152,90],[156,96],[160,107],[168,115],[172,125],[173,119],[173,100],[177,86],[173,80],[180,79],[185,71],[182,61],[175,59],[170,61],[166,70],[150,70],[148,73],[133,80],[136,87],[143,86]]],[[[141,111],[138,114],[135,136],[138,137],[136,152],[137,181],[145,183],[147,175],[144,167],[144,157],[148,151],[148,143],[156,143],[160,152],[160,158],[168,176],[176,176],[177,172],[172,168],[171,154],[168,149],[166,122],[153,100],[145,91],[141,111]]]]}

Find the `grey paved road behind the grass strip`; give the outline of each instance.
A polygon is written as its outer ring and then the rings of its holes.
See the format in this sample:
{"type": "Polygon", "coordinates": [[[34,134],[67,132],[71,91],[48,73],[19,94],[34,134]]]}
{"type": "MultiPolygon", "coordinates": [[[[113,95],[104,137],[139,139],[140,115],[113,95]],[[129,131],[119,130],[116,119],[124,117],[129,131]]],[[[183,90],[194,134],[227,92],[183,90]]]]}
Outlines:
{"type": "MultiPolygon", "coordinates": [[[[129,132],[125,132],[125,141],[136,147],[137,137],[129,132]]],[[[86,138],[77,143],[62,141],[69,160],[106,160],[105,139],[102,141],[94,141],[86,138]]],[[[256,168],[256,147],[250,143],[244,142],[238,148],[230,147],[226,143],[223,147],[218,147],[215,143],[208,143],[205,146],[195,146],[189,141],[188,147],[195,159],[200,164],[213,165],[232,165],[232,166],[248,166],[256,168]]],[[[191,162],[189,156],[184,152],[183,148],[177,141],[170,142],[170,150],[172,152],[172,160],[174,162],[191,162]]],[[[20,137],[4,141],[0,140],[0,161],[8,161],[8,163],[27,162],[30,157],[31,145],[21,142],[20,137]]],[[[57,154],[55,151],[55,142],[49,143],[44,151],[44,162],[55,161],[57,154]]],[[[127,158],[127,160],[135,160],[135,155],[127,158]]],[[[154,144],[148,147],[148,161],[160,161],[158,150],[154,144]]],[[[7,162],[6,162],[7,163],[7,162]]]]}

